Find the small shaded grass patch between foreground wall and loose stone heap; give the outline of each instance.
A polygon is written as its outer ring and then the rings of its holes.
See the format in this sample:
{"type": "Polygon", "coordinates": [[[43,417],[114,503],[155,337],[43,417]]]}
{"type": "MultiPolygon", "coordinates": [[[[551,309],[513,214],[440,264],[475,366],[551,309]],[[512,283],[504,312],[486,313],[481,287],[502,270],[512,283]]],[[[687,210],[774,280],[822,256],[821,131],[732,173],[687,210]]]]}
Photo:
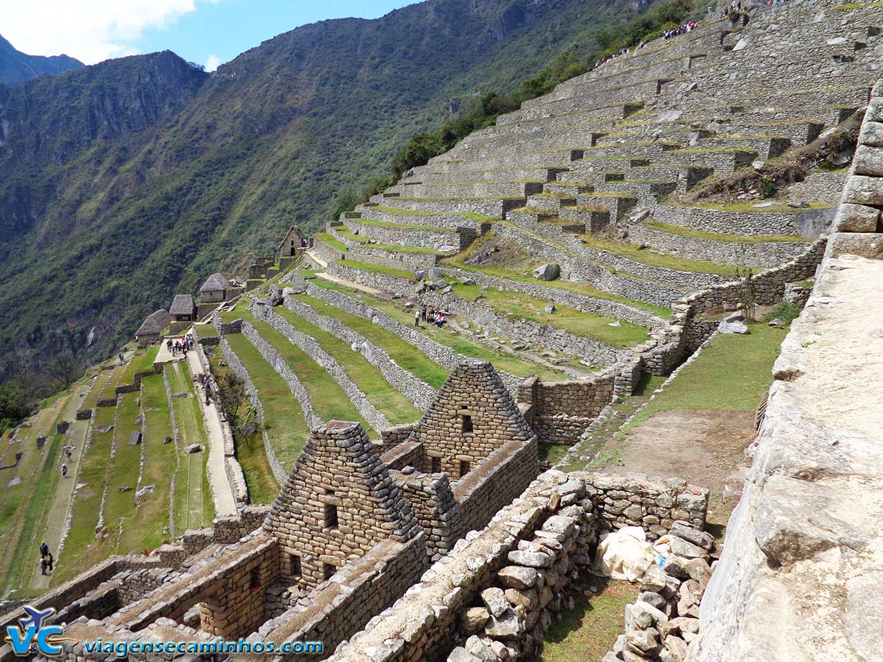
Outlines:
{"type": "Polygon", "coordinates": [[[638,584],[595,580],[600,592],[585,596],[590,583],[577,584],[574,608],[562,612],[562,620],[552,619],[536,662],[585,662],[597,660],[613,648],[616,637],[625,631],[625,606],[638,598],[638,584]]]}

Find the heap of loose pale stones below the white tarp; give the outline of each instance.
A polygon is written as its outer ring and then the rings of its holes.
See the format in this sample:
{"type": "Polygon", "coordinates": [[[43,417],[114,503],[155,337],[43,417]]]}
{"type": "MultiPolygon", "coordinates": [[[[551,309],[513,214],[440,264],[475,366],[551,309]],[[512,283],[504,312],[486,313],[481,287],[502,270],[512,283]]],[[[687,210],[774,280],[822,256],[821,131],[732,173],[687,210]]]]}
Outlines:
{"type": "Polygon", "coordinates": [[[699,603],[711,579],[714,539],[682,523],[668,532],[671,553],[647,569],[638,601],[625,607],[625,634],[601,662],[683,662],[698,638],[699,603]]]}

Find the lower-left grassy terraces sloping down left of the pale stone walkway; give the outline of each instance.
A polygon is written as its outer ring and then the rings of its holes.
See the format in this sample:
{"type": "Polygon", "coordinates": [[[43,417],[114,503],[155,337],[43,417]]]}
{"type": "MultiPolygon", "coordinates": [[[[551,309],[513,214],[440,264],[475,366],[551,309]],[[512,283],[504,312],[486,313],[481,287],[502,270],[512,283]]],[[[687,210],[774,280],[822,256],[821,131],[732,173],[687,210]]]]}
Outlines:
{"type": "Polygon", "coordinates": [[[208,454],[186,450],[208,449],[191,372],[181,361],[155,364],[158,350],[130,346],[123,363],[97,366],[4,434],[4,596],[41,593],[214,519],[208,454]],[[43,541],[55,557],[49,575],[43,541]]]}

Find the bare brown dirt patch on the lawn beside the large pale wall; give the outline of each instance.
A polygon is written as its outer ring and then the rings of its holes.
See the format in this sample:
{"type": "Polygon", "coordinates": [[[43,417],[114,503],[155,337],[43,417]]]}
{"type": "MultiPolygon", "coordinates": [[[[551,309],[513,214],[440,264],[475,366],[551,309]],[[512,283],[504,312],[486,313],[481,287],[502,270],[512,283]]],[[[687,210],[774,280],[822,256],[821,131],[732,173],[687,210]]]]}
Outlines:
{"type": "Polygon", "coordinates": [[[754,415],[744,411],[658,411],[626,435],[619,460],[605,473],[638,471],[677,476],[710,491],[708,521],[726,524],[736,497],[723,499],[724,485],[741,485],[744,449],[754,440],[754,415]]]}

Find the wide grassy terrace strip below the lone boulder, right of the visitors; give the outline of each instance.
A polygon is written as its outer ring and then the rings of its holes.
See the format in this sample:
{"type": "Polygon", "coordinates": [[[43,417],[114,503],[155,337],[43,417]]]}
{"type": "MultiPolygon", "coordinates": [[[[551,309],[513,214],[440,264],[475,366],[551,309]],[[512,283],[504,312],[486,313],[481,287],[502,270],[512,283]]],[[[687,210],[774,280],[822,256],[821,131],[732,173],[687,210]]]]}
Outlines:
{"type": "Polygon", "coordinates": [[[556,305],[555,312],[543,312],[550,301],[521,292],[501,292],[494,288],[479,292],[478,285],[456,285],[454,292],[466,300],[482,295],[481,302],[502,315],[524,318],[545,327],[560,328],[613,347],[632,347],[649,337],[645,327],[624,320],[620,320],[622,326],[611,327],[610,323],[617,321],[615,318],[580,312],[566,305],[556,305]]]}

